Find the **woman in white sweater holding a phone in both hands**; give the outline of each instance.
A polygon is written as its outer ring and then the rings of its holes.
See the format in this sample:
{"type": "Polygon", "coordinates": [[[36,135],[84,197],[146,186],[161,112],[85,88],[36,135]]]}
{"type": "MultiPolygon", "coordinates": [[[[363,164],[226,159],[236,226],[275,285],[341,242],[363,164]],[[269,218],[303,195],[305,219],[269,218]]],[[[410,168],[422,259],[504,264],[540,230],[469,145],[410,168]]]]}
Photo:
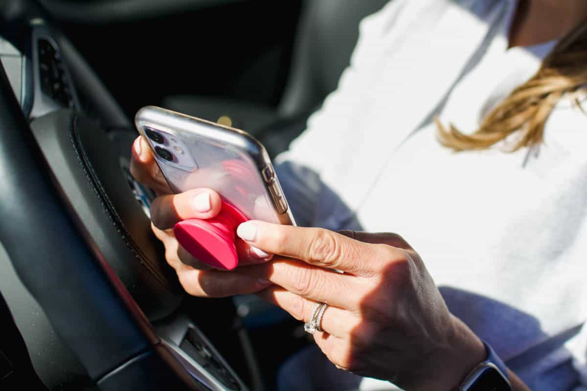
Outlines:
{"type": "Polygon", "coordinates": [[[512,389],[587,385],[586,19],[583,0],[394,0],[367,18],[338,90],[277,159],[299,225],[323,229],[244,223],[255,264],[232,273],[194,267],[166,230],[214,216],[218,195],[166,195],[137,140],[183,287],[257,292],[304,322],[327,302],[316,345],[384,380],[306,351],[284,389],[448,390],[485,346],[512,389]]]}

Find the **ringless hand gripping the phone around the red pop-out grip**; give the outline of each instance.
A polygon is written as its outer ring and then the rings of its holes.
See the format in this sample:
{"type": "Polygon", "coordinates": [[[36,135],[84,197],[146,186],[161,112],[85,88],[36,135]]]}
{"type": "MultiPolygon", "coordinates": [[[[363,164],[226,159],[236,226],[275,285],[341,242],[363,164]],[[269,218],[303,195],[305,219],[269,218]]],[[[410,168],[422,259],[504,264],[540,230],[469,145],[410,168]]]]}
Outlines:
{"type": "Polygon", "coordinates": [[[167,263],[176,270],[177,277],[187,293],[199,297],[226,297],[260,291],[269,281],[238,273],[247,264],[263,263],[271,259],[261,250],[245,242],[237,242],[239,267],[233,271],[216,270],[201,263],[177,242],[173,226],[186,219],[211,219],[221,208],[218,193],[211,189],[193,189],[174,194],[161,173],[149,144],[143,137],[134,140],[130,172],[134,178],[149,186],[157,195],[151,203],[151,228],[165,246],[167,263]]]}

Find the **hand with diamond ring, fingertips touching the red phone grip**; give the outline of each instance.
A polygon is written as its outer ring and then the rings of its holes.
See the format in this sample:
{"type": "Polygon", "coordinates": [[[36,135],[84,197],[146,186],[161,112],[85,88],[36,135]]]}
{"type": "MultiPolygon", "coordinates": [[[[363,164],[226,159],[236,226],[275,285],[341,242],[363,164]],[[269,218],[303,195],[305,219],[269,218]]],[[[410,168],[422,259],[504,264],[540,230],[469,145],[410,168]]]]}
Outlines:
{"type": "Polygon", "coordinates": [[[259,293],[263,298],[304,322],[318,302],[328,303],[323,331],[313,336],[339,368],[407,390],[448,390],[485,359],[483,343],[451,315],[402,237],[258,220],[237,233],[276,254],[239,271],[275,284],[259,293]]]}

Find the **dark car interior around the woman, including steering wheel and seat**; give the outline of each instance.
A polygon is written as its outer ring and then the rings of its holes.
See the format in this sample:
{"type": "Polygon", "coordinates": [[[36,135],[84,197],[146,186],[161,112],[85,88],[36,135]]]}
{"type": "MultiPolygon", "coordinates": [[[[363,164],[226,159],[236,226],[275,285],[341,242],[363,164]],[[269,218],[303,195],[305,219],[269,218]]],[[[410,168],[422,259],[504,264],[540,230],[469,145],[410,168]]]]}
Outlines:
{"type": "Polygon", "coordinates": [[[271,390],[308,344],[253,295],[187,295],[130,175],[139,108],[288,149],[387,0],[0,2],[0,389],[271,390]]]}

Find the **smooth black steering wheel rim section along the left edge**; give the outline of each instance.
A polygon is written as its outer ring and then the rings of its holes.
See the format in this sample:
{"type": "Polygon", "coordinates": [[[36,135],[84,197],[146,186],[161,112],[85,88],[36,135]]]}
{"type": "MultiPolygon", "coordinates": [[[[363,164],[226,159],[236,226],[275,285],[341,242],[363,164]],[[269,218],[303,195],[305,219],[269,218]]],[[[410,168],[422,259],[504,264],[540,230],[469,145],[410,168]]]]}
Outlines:
{"type": "Polygon", "coordinates": [[[0,124],[0,240],[53,327],[97,379],[152,342],[53,188],[4,67],[0,124]]]}

